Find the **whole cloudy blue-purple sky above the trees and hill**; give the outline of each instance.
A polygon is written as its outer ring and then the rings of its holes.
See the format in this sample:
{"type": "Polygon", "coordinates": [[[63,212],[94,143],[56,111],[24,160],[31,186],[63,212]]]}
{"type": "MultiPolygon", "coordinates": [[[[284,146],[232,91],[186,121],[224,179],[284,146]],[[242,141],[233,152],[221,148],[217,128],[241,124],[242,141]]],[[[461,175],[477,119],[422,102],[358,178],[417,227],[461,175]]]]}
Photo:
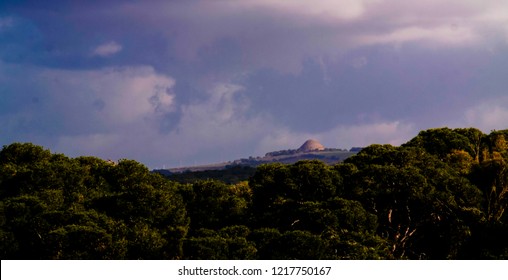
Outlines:
{"type": "Polygon", "coordinates": [[[504,0],[0,1],[0,145],[169,168],[507,120],[504,0]]]}

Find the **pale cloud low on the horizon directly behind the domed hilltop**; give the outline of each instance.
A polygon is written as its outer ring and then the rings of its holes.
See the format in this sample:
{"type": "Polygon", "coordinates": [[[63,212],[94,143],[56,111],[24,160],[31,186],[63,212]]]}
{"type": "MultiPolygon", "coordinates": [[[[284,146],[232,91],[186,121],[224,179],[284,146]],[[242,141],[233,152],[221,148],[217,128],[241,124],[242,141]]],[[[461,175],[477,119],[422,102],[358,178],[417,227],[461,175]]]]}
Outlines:
{"type": "Polygon", "coordinates": [[[292,131],[269,115],[247,114],[250,104],[242,90],[235,84],[218,84],[206,100],[183,106],[177,129],[154,139],[171,143],[171,149],[161,149],[161,154],[167,159],[193,158],[195,162],[187,164],[202,164],[210,163],[210,158],[226,161],[298,148],[310,138],[328,147],[350,148],[373,143],[399,145],[416,135],[412,124],[399,121],[338,125],[319,133],[292,131]]]}

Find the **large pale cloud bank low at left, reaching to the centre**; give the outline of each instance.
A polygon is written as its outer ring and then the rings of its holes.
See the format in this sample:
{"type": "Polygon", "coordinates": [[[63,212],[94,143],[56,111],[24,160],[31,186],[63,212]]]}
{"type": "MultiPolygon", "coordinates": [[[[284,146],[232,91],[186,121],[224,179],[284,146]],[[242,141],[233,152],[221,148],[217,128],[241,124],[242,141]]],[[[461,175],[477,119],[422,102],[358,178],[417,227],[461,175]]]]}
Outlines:
{"type": "MultiPolygon", "coordinates": [[[[0,71],[0,79],[9,81],[9,72],[0,71]]],[[[277,129],[263,116],[246,115],[250,104],[236,84],[217,84],[206,98],[177,104],[174,79],[152,67],[24,73],[38,103],[2,115],[1,123],[12,131],[38,126],[24,139],[72,157],[130,158],[151,168],[231,160],[254,154],[249,147],[277,129]],[[161,130],[168,112],[179,114],[169,132],[161,130]]]]}

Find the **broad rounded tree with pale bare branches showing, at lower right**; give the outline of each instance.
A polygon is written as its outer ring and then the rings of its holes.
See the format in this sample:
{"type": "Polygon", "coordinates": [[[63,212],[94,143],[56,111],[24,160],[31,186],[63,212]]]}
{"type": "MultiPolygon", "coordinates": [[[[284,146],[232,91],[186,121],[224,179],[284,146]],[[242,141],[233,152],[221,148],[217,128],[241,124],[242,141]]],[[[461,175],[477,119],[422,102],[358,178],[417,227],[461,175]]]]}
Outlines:
{"type": "Polygon", "coordinates": [[[478,216],[481,193],[436,155],[418,147],[373,145],[348,159],[351,199],[378,217],[396,258],[453,258],[478,216]],[[447,235],[437,233],[446,231],[447,235]]]}

